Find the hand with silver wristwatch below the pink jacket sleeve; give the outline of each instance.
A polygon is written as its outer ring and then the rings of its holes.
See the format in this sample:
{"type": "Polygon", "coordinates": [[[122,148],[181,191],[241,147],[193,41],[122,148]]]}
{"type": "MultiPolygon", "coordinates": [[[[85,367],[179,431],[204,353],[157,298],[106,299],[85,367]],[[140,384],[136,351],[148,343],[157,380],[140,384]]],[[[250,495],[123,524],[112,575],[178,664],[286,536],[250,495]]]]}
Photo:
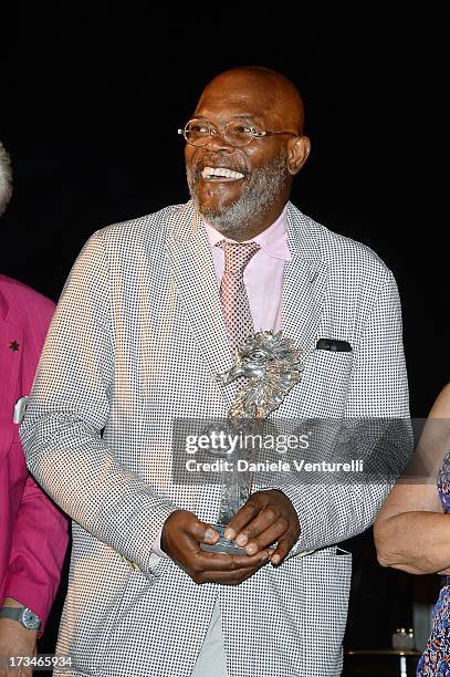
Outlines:
{"type": "MultiPolygon", "coordinates": [[[[8,597],[4,606],[22,606],[15,600],[8,597]]],[[[7,656],[34,656],[36,647],[36,631],[28,631],[18,621],[0,618],[0,656],[6,660],[7,656]]],[[[32,677],[32,667],[8,668],[0,664],[0,677],[32,677]]]]}

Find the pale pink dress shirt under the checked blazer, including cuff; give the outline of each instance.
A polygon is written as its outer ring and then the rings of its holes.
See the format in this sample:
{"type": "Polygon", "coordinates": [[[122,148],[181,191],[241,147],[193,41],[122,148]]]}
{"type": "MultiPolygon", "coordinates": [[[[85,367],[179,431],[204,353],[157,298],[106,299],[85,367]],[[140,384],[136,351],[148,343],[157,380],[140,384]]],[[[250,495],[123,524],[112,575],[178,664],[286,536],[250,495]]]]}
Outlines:
{"type": "MultiPolygon", "coordinates": [[[[243,281],[250,303],[250,312],[253,317],[254,331],[274,331],[281,327],[281,299],[283,290],[284,264],[291,260],[287,247],[286,230],[287,205],[283,211],[265,230],[249,242],[258,242],[261,249],[251,258],[243,273],[243,281]]],[[[216,247],[217,242],[228,240],[221,232],[205,223],[212,260],[214,262],[217,282],[223,275],[224,253],[223,249],[216,247]]],[[[167,558],[161,550],[161,532],[151,545],[151,550],[160,558],[167,558]]]]}

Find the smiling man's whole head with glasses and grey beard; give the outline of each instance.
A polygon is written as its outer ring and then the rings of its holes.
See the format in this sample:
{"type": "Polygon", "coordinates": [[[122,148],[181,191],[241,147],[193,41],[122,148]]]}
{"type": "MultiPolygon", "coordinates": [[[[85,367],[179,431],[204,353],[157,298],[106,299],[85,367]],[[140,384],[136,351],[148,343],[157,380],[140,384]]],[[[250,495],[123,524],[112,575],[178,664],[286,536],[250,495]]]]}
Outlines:
{"type": "Polygon", "coordinates": [[[231,69],[205,87],[193,118],[185,158],[196,209],[251,239],[279,218],[310,153],[299,90],[270,69],[231,69]]]}

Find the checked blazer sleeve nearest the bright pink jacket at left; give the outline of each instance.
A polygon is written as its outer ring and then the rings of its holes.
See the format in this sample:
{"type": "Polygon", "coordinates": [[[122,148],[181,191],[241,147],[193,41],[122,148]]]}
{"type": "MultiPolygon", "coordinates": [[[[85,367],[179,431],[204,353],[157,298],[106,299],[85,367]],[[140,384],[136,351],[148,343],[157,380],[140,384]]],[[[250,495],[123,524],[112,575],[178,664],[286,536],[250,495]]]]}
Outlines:
{"type": "Polygon", "coordinates": [[[102,233],[86,242],[51,323],[21,439],[30,471],[83,529],[155,573],[151,551],[177,509],[122,467],[102,438],[114,374],[113,283],[102,233]]]}

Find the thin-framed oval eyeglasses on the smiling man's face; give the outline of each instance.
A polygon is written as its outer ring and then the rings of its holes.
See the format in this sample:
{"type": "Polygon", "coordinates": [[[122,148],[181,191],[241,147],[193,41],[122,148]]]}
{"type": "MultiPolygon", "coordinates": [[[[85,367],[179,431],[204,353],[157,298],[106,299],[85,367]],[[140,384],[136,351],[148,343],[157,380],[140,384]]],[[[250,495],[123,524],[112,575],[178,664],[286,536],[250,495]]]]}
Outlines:
{"type": "Polygon", "coordinates": [[[219,129],[207,119],[198,119],[197,117],[186,123],[182,129],[178,129],[178,134],[184,136],[191,146],[205,146],[212,136],[221,135],[230,146],[236,146],[238,148],[248,146],[254,138],[274,136],[275,134],[299,136],[295,132],[262,132],[255,129],[245,119],[230,119],[223,129],[219,129]]]}

